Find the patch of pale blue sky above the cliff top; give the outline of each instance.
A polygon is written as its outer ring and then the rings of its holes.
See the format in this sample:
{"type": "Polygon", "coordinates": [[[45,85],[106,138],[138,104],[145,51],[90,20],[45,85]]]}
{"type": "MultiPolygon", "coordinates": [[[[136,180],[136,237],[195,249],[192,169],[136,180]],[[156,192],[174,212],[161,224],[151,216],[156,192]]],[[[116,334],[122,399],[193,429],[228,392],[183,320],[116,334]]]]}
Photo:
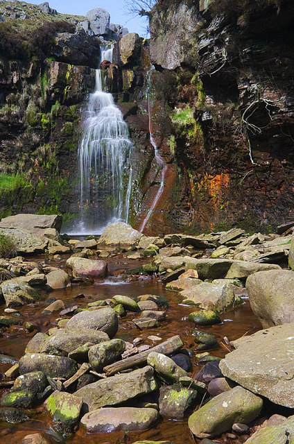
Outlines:
{"type": "MultiPolygon", "coordinates": [[[[38,5],[42,0],[26,0],[27,3],[38,5]]],[[[145,37],[146,19],[144,17],[130,18],[124,6],[124,0],[49,0],[49,6],[58,12],[85,15],[93,8],[104,8],[110,13],[112,23],[126,26],[132,33],[145,37]]]]}

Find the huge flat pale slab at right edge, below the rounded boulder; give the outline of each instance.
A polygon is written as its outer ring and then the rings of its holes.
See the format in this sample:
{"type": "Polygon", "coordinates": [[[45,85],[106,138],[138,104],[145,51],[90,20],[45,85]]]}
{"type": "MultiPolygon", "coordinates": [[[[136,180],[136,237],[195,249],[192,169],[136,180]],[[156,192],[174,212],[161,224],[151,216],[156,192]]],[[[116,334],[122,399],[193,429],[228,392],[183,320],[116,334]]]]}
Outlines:
{"type": "Polygon", "coordinates": [[[232,342],[220,370],[275,404],[294,407],[294,323],[277,325],[232,342]]]}

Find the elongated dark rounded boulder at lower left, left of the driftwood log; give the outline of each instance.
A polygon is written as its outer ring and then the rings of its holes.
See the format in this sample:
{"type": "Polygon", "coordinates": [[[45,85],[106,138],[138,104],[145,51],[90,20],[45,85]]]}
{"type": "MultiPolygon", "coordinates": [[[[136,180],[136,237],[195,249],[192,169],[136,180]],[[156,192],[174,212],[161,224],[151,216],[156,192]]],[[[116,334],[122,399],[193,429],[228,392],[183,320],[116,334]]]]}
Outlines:
{"type": "Polygon", "coordinates": [[[73,359],[40,353],[26,353],[19,359],[19,373],[42,371],[49,377],[64,377],[68,379],[78,370],[78,364],[73,359]]]}

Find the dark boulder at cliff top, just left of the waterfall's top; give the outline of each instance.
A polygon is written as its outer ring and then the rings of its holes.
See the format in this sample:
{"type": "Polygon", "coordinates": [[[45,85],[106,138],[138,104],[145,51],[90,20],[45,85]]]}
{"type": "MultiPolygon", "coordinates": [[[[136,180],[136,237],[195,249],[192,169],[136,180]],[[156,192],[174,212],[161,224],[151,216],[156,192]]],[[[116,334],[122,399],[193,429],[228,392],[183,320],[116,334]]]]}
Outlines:
{"type": "Polygon", "coordinates": [[[98,67],[101,58],[98,40],[85,33],[85,31],[76,34],[58,34],[55,37],[55,44],[51,52],[59,62],[85,65],[92,68],[98,67]]]}

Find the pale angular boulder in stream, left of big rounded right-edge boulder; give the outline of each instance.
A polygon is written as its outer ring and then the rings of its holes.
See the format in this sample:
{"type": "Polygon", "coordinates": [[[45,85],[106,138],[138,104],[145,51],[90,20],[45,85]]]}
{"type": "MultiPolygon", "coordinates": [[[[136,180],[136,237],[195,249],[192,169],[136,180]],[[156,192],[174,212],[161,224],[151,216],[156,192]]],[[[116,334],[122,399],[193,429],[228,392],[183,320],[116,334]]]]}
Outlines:
{"type": "Polygon", "coordinates": [[[219,284],[202,282],[189,290],[181,291],[180,294],[184,296],[185,300],[194,302],[197,307],[220,311],[241,302],[240,298],[234,294],[232,285],[225,282],[219,284]]]}

